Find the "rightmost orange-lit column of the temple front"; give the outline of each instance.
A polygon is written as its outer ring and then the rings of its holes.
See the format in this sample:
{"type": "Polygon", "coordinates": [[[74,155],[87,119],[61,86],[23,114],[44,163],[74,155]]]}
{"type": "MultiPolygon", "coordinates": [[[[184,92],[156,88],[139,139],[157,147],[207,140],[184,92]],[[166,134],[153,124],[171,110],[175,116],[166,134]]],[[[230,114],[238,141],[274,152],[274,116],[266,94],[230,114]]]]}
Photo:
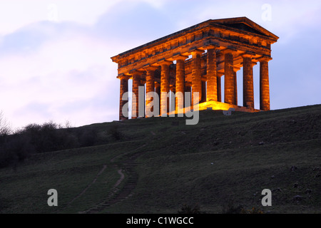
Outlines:
{"type": "Polygon", "coordinates": [[[272,58],[260,58],[260,110],[270,110],[270,84],[268,61],[272,58]]]}

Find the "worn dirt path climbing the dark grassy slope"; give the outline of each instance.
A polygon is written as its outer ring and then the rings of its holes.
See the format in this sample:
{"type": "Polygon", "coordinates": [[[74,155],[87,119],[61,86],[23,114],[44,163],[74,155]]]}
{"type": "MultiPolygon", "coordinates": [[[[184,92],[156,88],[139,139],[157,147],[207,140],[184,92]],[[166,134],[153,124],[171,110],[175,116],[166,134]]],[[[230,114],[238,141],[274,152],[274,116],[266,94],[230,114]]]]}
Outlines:
{"type": "MultiPolygon", "coordinates": [[[[142,145],[140,147],[137,147],[136,149],[131,150],[130,152],[141,149],[142,147],[145,147],[145,146],[146,146],[146,144],[142,145]]],[[[126,152],[126,154],[128,154],[130,152],[126,152]]],[[[98,213],[108,207],[111,207],[114,204],[117,204],[118,202],[123,201],[124,199],[127,199],[128,197],[131,197],[132,192],[135,189],[137,182],[138,182],[138,173],[135,171],[135,167],[136,167],[136,165],[138,165],[138,163],[136,163],[136,159],[142,153],[143,152],[136,152],[131,157],[129,157],[123,163],[123,165],[121,167],[114,165],[114,167],[116,168],[120,177],[117,180],[117,182],[115,183],[115,185],[113,185],[111,191],[108,192],[108,196],[106,197],[106,199],[103,202],[97,204],[95,207],[92,207],[91,209],[88,209],[84,212],[79,212],[79,213],[82,213],[82,214],[83,213],[86,213],[86,214],[98,213]],[[126,173],[127,178],[126,178],[126,181],[123,183],[123,187],[119,188],[119,186],[122,184],[123,180],[125,179],[124,173],[126,173]]],[[[126,154],[121,154],[121,155],[126,155],[126,154]]],[[[116,160],[116,158],[120,157],[121,155],[117,155],[116,157],[113,157],[111,159],[111,162],[114,162],[116,160]]],[[[103,170],[105,170],[105,169],[103,169],[103,170]]],[[[99,172],[98,175],[101,175],[103,170],[101,172],[99,172]]],[[[97,177],[98,177],[98,175],[97,175],[97,177]]],[[[97,179],[97,177],[96,177],[96,179],[97,179]]],[[[91,183],[91,185],[94,182],[96,182],[96,179],[91,183]]],[[[91,185],[89,185],[88,187],[90,187],[91,185]]],[[[88,187],[86,187],[86,189],[83,192],[81,192],[81,195],[83,195],[86,192],[88,187]]],[[[80,197],[81,195],[79,195],[78,197],[80,197]]],[[[76,197],[76,198],[78,198],[78,197],[76,197]]]]}

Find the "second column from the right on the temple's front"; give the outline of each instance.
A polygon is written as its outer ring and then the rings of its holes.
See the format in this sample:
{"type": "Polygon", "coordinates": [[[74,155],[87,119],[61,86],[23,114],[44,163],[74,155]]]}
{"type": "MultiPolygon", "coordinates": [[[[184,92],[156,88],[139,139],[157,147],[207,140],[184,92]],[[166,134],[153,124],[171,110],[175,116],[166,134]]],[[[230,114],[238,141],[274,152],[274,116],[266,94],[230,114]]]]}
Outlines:
{"type": "Polygon", "coordinates": [[[245,54],[242,57],[243,57],[243,106],[248,108],[254,108],[252,55],[245,54]]]}

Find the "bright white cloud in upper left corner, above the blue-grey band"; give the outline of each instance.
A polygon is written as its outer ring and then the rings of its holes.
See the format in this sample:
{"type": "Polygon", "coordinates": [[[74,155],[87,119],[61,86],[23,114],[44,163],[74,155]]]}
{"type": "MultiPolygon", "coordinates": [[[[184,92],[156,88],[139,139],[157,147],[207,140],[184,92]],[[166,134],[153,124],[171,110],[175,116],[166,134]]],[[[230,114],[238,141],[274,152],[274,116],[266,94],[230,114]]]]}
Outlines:
{"type": "Polygon", "coordinates": [[[0,3],[0,34],[11,33],[37,21],[77,21],[93,25],[98,16],[121,0],[11,0],[0,3]],[[56,6],[56,7],[52,7],[56,6]]]}

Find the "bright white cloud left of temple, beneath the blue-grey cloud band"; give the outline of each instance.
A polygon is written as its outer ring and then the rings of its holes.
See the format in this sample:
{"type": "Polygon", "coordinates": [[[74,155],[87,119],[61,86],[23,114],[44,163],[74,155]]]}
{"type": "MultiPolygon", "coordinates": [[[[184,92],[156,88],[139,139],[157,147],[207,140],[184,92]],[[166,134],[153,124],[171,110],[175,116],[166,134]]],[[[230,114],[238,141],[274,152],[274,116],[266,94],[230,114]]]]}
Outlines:
{"type": "MultiPolygon", "coordinates": [[[[90,103],[103,95],[108,99],[108,91],[119,93],[114,85],[117,69],[110,60],[113,46],[83,28],[60,31],[51,31],[54,38],[31,51],[21,47],[0,56],[0,109],[15,128],[51,119],[62,123],[73,116],[74,123],[83,125],[96,122],[102,113],[110,115],[107,106],[96,113],[97,107],[90,103]],[[77,103],[82,104],[83,112],[68,109],[77,103]]],[[[114,114],[111,120],[115,118],[114,114]]]]}

